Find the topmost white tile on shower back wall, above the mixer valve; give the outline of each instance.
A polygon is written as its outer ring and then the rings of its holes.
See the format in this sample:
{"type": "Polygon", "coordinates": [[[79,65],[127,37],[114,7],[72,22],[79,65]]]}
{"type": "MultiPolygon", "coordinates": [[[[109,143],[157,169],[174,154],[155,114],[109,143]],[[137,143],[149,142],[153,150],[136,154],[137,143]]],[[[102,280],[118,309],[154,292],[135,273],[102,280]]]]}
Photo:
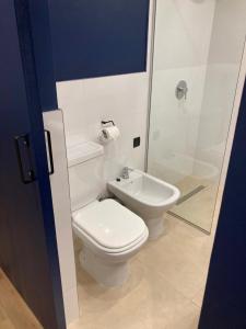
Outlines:
{"type": "Polygon", "coordinates": [[[154,69],[207,63],[215,0],[156,0],[154,69]]]}

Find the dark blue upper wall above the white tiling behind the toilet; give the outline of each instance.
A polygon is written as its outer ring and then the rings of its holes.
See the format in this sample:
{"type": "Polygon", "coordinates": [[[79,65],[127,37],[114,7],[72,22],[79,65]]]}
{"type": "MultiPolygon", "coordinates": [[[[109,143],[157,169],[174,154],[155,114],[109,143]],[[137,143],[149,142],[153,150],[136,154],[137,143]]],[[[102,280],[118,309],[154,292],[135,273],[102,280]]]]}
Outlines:
{"type": "Polygon", "coordinates": [[[149,0],[49,0],[57,81],[144,71],[149,0]]]}

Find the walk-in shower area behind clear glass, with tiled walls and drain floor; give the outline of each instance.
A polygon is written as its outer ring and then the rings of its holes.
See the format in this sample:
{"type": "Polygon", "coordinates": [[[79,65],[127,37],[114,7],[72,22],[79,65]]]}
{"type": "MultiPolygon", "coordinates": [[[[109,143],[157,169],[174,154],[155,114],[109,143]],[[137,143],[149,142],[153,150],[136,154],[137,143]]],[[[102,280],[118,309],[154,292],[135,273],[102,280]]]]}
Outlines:
{"type": "Polygon", "coordinates": [[[246,34],[245,0],[156,0],[148,172],[210,232],[246,34]]]}

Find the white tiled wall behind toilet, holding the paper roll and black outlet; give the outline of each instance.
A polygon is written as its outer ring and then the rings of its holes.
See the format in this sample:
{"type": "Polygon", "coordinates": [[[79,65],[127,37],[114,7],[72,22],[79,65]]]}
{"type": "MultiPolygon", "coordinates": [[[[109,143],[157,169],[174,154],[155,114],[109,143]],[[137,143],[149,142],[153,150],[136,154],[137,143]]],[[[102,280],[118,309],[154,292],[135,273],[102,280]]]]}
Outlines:
{"type": "Polygon", "coordinates": [[[114,120],[120,138],[105,148],[105,172],[117,175],[124,166],[143,169],[149,75],[134,73],[57,83],[67,139],[97,141],[102,120],[114,120]],[[141,146],[133,149],[133,137],[141,146]]]}

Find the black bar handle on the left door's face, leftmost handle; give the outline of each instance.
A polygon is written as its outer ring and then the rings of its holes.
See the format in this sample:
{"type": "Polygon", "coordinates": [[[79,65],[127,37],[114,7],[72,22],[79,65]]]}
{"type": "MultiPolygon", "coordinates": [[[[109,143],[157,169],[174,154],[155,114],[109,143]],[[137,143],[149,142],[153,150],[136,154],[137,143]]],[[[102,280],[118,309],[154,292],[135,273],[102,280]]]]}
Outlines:
{"type": "Polygon", "coordinates": [[[30,137],[27,134],[14,137],[17,163],[21,173],[21,180],[24,184],[30,184],[36,180],[32,168],[30,154],[30,137]],[[24,161],[26,159],[26,161],[24,161]],[[27,163],[26,163],[27,162],[27,163]]]}

